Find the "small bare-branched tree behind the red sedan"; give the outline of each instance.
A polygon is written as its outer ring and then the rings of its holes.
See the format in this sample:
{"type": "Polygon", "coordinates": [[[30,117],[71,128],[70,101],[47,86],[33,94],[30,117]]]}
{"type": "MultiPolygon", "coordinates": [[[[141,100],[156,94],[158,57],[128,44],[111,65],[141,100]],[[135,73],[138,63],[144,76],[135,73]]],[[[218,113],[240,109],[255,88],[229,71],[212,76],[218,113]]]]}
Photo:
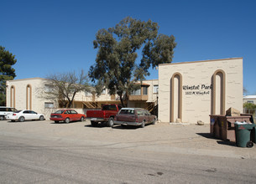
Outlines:
{"type": "Polygon", "coordinates": [[[43,99],[56,101],[60,107],[70,108],[77,93],[90,92],[87,75],[81,70],[80,73],[67,72],[60,74],[50,74],[46,77],[43,99]]]}

